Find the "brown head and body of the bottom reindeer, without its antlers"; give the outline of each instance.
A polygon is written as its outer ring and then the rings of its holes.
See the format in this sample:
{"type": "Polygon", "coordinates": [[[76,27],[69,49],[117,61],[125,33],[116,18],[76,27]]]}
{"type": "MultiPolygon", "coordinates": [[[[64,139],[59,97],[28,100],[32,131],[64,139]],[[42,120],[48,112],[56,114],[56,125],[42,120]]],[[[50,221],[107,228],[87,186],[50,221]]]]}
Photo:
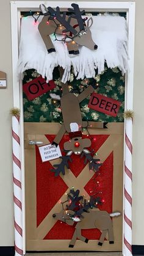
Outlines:
{"type": "Polygon", "coordinates": [[[112,227],[112,220],[110,217],[120,216],[120,213],[107,213],[107,211],[99,211],[92,210],[87,211],[87,208],[81,209],[80,216],[81,218],[77,218],[76,212],[71,210],[62,210],[60,213],[54,213],[52,215],[53,218],[63,221],[68,225],[73,225],[74,222],[77,222],[75,225],[75,231],[73,237],[70,241],[69,247],[74,247],[76,243],[76,239],[78,238],[85,243],[88,243],[88,239],[81,235],[82,229],[99,229],[102,231],[101,237],[99,238],[98,245],[102,246],[104,242],[104,238],[109,233],[109,243],[114,243],[113,238],[113,227],[112,227]]]}

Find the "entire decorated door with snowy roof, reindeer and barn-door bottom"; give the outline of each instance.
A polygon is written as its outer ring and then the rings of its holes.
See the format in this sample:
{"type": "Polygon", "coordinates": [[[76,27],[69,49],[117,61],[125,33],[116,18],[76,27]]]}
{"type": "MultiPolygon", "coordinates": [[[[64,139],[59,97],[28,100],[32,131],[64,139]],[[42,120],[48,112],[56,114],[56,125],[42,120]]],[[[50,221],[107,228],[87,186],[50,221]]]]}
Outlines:
{"type": "Polygon", "coordinates": [[[125,14],[71,7],[21,21],[26,250],[121,251],[125,14]]]}

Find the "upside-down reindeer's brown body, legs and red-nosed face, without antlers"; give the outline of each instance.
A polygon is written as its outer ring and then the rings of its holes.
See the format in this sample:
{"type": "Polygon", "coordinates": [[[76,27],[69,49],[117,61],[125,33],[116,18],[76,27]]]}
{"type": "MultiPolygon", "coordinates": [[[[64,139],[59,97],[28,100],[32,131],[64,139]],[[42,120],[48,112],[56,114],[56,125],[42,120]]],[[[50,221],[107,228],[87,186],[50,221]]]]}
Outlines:
{"type": "MultiPolygon", "coordinates": [[[[60,76],[63,76],[63,69],[59,68],[60,76]]],[[[62,109],[63,123],[59,130],[59,133],[55,137],[52,144],[56,146],[61,141],[63,135],[67,131],[70,137],[70,141],[64,143],[64,149],[70,152],[68,155],[74,153],[75,155],[81,155],[84,148],[90,147],[90,139],[82,139],[82,127],[87,125],[87,122],[82,122],[82,115],[79,103],[88,97],[93,90],[96,89],[95,84],[88,86],[77,97],[74,93],[70,93],[68,90],[68,84],[62,84],[62,97],[60,98],[60,108],[62,109]]],[[[98,86],[97,86],[98,87],[98,86]]],[[[55,98],[56,95],[50,93],[51,98],[55,98]]],[[[96,128],[107,128],[107,123],[96,123],[96,128]]],[[[86,153],[86,152],[85,152],[86,153]]],[[[87,152],[88,153],[88,152],[87,152]]]]}

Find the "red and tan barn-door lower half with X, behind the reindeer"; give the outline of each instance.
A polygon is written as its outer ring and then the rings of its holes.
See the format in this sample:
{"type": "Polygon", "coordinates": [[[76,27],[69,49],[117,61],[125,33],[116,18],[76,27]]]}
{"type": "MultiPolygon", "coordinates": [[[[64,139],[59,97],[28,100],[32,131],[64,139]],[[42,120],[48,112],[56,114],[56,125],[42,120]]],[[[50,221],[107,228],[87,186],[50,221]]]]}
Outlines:
{"type": "MultiPolygon", "coordinates": [[[[41,163],[38,147],[29,145],[29,141],[42,141],[43,145],[52,142],[59,131],[59,123],[25,123],[25,159],[26,159],[26,249],[28,251],[70,251],[68,247],[73,236],[74,227],[56,222],[53,213],[62,210],[60,202],[67,199],[65,195],[74,186],[85,197],[90,196],[95,183],[95,173],[84,165],[84,159],[73,156],[70,170],[60,177],[50,172],[59,159],[50,163],[41,163]],[[47,135],[45,135],[47,134],[47,135]]],[[[96,130],[95,123],[90,129],[96,141],[92,148],[101,159],[100,191],[103,191],[104,204],[100,210],[121,211],[123,196],[123,123],[109,123],[107,130],[96,130]]],[[[60,148],[67,135],[63,136],[60,148]]],[[[113,219],[115,244],[104,241],[98,246],[99,230],[83,230],[89,239],[88,244],[76,241],[73,250],[78,251],[121,251],[122,218],[113,219]]]]}

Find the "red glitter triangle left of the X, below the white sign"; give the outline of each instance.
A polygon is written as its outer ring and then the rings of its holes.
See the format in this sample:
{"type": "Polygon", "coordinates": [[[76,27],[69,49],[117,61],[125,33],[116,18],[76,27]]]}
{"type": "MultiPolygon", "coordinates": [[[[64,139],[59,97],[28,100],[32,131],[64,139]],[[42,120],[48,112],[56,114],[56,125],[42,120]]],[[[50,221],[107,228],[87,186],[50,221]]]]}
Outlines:
{"type": "MultiPolygon", "coordinates": [[[[52,207],[67,191],[68,186],[60,177],[54,177],[50,172],[52,165],[49,162],[42,163],[38,147],[36,149],[37,170],[37,226],[45,219],[52,207]]],[[[31,171],[31,170],[30,170],[31,171]]]]}

